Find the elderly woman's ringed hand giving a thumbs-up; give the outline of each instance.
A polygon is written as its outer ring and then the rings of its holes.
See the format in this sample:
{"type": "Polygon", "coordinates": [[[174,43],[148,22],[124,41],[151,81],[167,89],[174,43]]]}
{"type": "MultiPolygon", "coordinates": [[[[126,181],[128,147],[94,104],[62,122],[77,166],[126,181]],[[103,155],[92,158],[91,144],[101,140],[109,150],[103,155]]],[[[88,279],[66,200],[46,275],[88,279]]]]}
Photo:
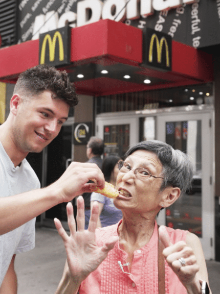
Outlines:
{"type": "Polygon", "coordinates": [[[189,294],[201,293],[198,276],[199,266],[193,249],[184,241],[172,244],[165,226],[159,227],[159,237],[165,246],[163,255],[168,265],[176,273],[187,292],[189,294]],[[179,260],[181,258],[182,262],[179,260]]]}

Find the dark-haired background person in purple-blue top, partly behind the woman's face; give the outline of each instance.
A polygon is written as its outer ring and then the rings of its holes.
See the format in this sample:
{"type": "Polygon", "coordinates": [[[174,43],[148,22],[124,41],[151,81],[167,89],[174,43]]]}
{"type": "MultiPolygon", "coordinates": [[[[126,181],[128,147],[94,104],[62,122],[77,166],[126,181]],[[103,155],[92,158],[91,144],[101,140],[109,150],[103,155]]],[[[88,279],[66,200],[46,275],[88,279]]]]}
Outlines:
{"type": "MultiPolygon", "coordinates": [[[[120,159],[121,158],[117,155],[108,155],[104,158],[102,164],[102,172],[104,174],[105,181],[109,182],[113,186],[116,184],[116,178],[119,172],[117,163],[120,159]]],[[[122,219],[122,212],[114,206],[112,198],[93,192],[90,198],[91,209],[94,201],[97,201],[99,206],[97,227],[105,227],[115,224],[122,219]]]]}

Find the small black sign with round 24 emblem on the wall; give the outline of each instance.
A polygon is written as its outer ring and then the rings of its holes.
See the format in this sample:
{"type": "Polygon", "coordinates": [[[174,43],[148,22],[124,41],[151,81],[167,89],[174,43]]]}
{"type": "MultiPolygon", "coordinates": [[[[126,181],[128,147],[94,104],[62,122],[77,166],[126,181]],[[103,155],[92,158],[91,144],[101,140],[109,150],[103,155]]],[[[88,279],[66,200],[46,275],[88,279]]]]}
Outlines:
{"type": "Polygon", "coordinates": [[[74,145],[86,145],[91,137],[92,123],[74,123],[74,145]]]}

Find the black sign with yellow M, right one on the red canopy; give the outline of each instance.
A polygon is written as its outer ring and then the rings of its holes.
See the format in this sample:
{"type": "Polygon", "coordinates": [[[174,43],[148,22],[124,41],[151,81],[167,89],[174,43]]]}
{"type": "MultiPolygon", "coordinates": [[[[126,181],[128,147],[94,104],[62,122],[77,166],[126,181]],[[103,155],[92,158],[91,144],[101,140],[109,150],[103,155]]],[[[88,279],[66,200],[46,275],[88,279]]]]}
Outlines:
{"type": "Polygon", "coordinates": [[[172,70],[172,38],[147,28],[144,32],[143,65],[163,71],[172,70]]]}

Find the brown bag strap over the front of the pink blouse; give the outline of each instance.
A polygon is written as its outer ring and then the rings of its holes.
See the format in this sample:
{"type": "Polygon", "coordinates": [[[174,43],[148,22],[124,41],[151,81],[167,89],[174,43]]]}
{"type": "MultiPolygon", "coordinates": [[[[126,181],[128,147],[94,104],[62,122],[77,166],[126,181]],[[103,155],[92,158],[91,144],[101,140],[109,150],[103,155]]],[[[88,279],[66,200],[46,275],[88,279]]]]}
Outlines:
{"type": "MultiPolygon", "coordinates": [[[[157,230],[159,225],[157,225],[157,230]]],[[[159,239],[158,232],[158,288],[159,294],[165,294],[165,270],[164,270],[164,256],[163,256],[164,245],[159,239]]]]}

